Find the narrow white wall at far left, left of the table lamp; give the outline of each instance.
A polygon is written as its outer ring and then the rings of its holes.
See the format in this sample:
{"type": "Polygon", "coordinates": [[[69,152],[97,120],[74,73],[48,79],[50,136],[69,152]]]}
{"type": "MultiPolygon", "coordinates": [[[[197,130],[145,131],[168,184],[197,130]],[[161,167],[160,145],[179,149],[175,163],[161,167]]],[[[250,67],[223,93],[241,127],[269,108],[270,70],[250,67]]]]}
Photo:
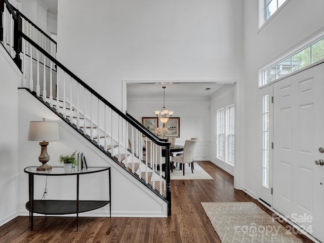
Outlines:
{"type": "Polygon", "coordinates": [[[16,217],[18,202],[18,83],[22,77],[0,45],[0,225],[16,217]]]}

